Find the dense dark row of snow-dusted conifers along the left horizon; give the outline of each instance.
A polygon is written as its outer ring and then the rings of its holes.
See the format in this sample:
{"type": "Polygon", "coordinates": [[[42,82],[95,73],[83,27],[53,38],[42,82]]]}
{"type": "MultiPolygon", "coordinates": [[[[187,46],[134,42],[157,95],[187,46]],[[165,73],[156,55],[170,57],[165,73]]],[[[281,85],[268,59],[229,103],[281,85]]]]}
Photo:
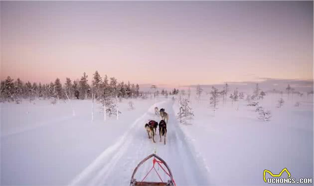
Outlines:
{"type": "Polygon", "coordinates": [[[72,81],[65,79],[62,84],[59,78],[54,82],[41,84],[36,82],[23,82],[20,78],[16,80],[7,76],[0,83],[0,101],[16,101],[22,99],[104,99],[105,97],[137,98],[142,96],[139,84],[118,82],[115,77],[104,78],[96,71],[92,82],[88,82],[88,75],[84,72],[80,79],[72,81]]]}

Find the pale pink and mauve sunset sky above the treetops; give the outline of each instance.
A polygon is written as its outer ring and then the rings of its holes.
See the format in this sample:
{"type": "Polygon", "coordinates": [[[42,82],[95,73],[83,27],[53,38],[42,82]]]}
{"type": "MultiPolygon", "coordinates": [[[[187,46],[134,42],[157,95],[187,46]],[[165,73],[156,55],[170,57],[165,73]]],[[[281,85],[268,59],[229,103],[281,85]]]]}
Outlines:
{"type": "Polygon", "coordinates": [[[313,79],[313,1],[1,1],[1,79],[313,79]]]}

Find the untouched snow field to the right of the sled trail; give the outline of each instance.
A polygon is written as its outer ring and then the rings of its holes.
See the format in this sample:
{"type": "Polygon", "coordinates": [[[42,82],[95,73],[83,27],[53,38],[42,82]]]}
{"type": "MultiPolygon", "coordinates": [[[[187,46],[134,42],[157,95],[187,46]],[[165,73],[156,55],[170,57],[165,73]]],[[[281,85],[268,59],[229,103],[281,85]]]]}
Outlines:
{"type": "Polygon", "coordinates": [[[284,106],[277,108],[280,97],[269,94],[258,100],[272,112],[268,122],[258,120],[256,107],[248,107],[245,100],[233,106],[230,99],[225,104],[220,100],[213,116],[209,95],[192,99],[193,125],[180,127],[207,166],[213,185],[264,185],[265,169],[279,174],[287,168],[291,178],[313,178],[313,98],[290,95],[288,100],[284,94],[284,106]],[[297,101],[300,107],[294,106],[297,101]]]}

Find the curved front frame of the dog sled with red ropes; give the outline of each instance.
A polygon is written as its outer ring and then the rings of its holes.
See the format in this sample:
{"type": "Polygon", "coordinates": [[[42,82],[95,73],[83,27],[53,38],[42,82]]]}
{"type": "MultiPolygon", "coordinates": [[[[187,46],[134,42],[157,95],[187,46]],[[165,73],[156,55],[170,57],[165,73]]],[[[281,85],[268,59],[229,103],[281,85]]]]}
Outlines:
{"type": "Polygon", "coordinates": [[[160,157],[158,157],[156,154],[151,154],[150,156],[146,157],[144,160],[142,160],[139,165],[134,169],[132,177],[131,177],[131,183],[130,186],[176,186],[175,182],[173,180],[172,177],[172,173],[169,169],[169,167],[167,166],[167,164],[165,163],[165,161],[163,161],[160,157]],[[143,178],[143,180],[141,182],[137,181],[134,176],[136,174],[136,172],[138,171],[139,167],[141,167],[141,165],[148,161],[149,159],[153,158],[153,167],[152,169],[147,173],[147,175],[143,178]],[[164,172],[166,175],[169,176],[169,180],[167,182],[163,182],[161,177],[159,176],[155,165],[158,165],[164,172]],[[164,165],[165,169],[163,168],[162,164],[164,165]],[[146,177],[151,173],[152,170],[155,170],[155,172],[157,173],[159,179],[161,182],[146,182],[144,181],[146,179],[146,177]]]}

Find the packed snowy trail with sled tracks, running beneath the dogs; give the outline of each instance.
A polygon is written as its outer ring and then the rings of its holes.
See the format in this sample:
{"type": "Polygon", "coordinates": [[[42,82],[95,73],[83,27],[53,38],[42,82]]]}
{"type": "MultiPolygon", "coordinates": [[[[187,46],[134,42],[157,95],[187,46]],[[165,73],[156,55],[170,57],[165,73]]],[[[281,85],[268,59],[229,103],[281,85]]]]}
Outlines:
{"type": "MultiPolygon", "coordinates": [[[[131,175],[137,164],[148,155],[157,150],[157,155],[167,162],[177,186],[209,185],[209,179],[204,176],[206,169],[199,166],[193,153],[185,140],[185,136],[178,126],[175,113],[172,109],[172,100],[153,105],[148,112],[138,118],[130,129],[113,146],[106,149],[92,164],[76,176],[70,185],[114,186],[130,184],[131,175]],[[156,144],[148,139],[144,129],[145,123],[150,119],[157,120],[154,108],[165,108],[169,114],[167,124],[166,145],[159,142],[159,136],[155,136],[156,144]]],[[[148,161],[138,170],[137,180],[142,180],[152,168],[152,161],[148,161]]],[[[168,177],[161,173],[164,182],[168,177]]],[[[152,172],[147,181],[158,181],[156,173],[152,172]]]]}

